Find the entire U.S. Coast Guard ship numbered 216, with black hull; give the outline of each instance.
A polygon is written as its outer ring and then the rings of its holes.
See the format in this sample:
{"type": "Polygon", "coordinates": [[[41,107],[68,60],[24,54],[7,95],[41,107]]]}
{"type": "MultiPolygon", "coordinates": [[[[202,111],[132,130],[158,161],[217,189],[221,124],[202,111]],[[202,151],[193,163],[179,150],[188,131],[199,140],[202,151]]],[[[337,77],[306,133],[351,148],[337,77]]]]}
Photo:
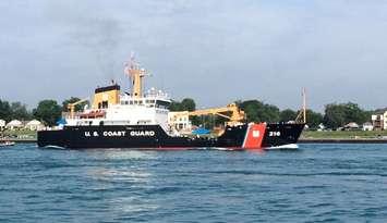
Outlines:
{"type": "Polygon", "coordinates": [[[121,94],[112,84],[95,89],[90,108],[75,113],[76,104],[69,104],[70,114],[55,129],[37,134],[39,147],[190,149],[221,147],[259,149],[295,144],[303,123],[245,123],[244,112],[237,104],[196,111],[171,112],[171,99],[161,90],[150,88],[143,94],[143,78],[147,72],[131,59],[125,73],[132,79],[132,92],[121,94]],[[220,115],[229,121],[218,135],[206,137],[192,134],[190,117],[220,115]]]}

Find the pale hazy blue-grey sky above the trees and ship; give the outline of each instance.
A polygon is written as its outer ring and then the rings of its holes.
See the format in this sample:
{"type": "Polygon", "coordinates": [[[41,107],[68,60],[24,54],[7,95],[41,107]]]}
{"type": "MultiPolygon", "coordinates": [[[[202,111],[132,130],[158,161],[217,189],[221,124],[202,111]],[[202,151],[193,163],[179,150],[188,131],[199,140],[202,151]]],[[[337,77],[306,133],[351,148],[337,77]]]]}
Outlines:
{"type": "Polygon", "coordinates": [[[90,97],[131,52],[171,98],[198,108],[387,107],[384,0],[2,0],[0,99],[35,108],[90,97]]]}

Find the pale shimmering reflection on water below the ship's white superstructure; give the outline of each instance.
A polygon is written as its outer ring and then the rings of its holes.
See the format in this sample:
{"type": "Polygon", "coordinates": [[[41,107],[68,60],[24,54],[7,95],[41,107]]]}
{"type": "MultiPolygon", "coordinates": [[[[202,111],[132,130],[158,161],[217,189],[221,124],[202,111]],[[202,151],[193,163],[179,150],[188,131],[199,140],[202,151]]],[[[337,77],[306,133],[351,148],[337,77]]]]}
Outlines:
{"type": "Polygon", "coordinates": [[[93,166],[87,171],[94,182],[92,189],[101,193],[101,202],[110,213],[117,214],[116,218],[158,208],[146,193],[154,189],[149,163],[157,162],[156,151],[106,149],[87,152],[93,159],[93,166]]]}

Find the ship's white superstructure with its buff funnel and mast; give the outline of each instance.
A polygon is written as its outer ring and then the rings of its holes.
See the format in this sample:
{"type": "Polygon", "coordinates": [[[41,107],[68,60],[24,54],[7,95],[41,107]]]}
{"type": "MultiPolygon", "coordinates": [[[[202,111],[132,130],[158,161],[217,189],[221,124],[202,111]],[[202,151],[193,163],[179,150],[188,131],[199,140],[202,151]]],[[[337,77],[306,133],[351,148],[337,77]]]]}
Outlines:
{"type": "MultiPolygon", "coordinates": [[[[114,83],[108,87],[97,88],[92,108],[85,108],[82,113],[76,114],[72,110],[71,115],[65,117],[65,125],[160,125],[166,132],[170,132],[169,96],[155,88],[142,92],[145,70],[140,69],[133,59],[130,67],[125,67],[125,73],[133,79],[131,94],[121,94],[120,86],[114,83]]],[[[70,104],[69,108],[74,109],[74,104],[70,104]]]]}

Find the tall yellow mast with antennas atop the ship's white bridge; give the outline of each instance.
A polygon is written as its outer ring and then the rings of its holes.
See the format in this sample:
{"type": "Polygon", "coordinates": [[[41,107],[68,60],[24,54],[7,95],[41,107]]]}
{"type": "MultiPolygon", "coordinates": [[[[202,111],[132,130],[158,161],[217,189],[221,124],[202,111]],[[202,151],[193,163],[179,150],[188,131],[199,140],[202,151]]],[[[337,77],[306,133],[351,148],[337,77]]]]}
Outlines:
{"type": "Polygon", "coordinates": [[[132,79],[132,95],[134,98],[143,97],[143,77],[149,74],[135,62],[133,54],[125,66],[125,74],[132,79]]]}

